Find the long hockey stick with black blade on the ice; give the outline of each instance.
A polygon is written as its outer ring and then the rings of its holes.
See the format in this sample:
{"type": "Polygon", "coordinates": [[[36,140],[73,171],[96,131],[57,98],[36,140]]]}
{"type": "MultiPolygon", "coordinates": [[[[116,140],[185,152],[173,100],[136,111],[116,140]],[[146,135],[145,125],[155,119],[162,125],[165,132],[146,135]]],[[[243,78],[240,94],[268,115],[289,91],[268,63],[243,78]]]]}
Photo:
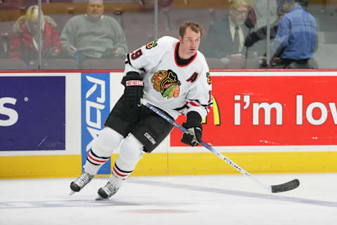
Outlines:
{"type": "MultiPolygon", "coordinates": [[[[170,117],[168,117],[167,115],[162,113],[160,110],[155,108],[150,103],[147,103],[147,101],[145,101],[143,98],[140,99],[140,104],[145,105],[147,108],[152,110],[154,113],[157,113],[157,115],[162,117],[164,120],[166,120],[170,124],[173,124],[175,127],[180,129],[180,131],[183,131],[184,133],[187,132],[187,129],[185,129],[185,127],[180,126],[180,124],[178,124],[177,122],[172,120],[170,117]]],[[[238,165],[236,165],[229,158],[227,158],[227,157],[225,157],[225,155],[219,153],[217,150],[215,150],[214,148],[212,148],[211,146],[206,144],[204,141],[200,141],[200,144],[202,146],[204,146],[205,148],[207,148],[208,150],[210,150],[212,153],[214,153],[214,155],[218,156],[218,158],[227,162],[230,166],[234,167],[235,169],[237,169],[242,174],[248,176],[250,179],[255,181],[258,185],[260,185],[262,188],[264,188],[268,192],[277,193],[277,192],[291,191],[291,190],[297,188],[300,185],[300,181],[298,181],[298,179],[293,179],[292,181],[288,181],[284,184],[277,184],[277,185],[272,185],[272,186],[265,185],[259,179],[257,179],[253,175],[249,174],[249,172],[246,172],[246,170],[244,170],[241,167],[239,167],[238,165]]]]}

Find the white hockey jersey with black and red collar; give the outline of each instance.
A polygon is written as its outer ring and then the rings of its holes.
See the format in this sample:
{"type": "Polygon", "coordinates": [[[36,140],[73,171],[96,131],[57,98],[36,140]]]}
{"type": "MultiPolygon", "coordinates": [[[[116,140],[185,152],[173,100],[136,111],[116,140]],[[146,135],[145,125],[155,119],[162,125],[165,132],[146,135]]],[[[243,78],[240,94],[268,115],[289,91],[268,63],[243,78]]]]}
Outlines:
{"type": "Polygon", "coordinates": [[[166,36],[128,53],[124,73],[139,72],[144,82],[143,98],[174,119],[190,111],[204,119],[213,104],[209,67],[199,51],[190,63],[178,65],[178,44],[178,39],[166,36]]]}

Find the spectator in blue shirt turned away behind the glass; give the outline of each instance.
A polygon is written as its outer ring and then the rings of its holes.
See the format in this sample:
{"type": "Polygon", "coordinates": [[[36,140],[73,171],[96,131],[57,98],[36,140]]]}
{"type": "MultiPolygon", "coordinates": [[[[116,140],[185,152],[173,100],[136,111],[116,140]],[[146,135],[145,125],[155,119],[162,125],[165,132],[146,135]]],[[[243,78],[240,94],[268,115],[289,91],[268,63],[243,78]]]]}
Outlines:
{"type": "Polygon", "coordinates": [[[316,20],[300,4],[305,4],[305,1],[282,1],[284,11],[289,13],[279,20],[272,45],[270,65],[273,68],[313,68],[308,61],[315,52],[316,20]]]}

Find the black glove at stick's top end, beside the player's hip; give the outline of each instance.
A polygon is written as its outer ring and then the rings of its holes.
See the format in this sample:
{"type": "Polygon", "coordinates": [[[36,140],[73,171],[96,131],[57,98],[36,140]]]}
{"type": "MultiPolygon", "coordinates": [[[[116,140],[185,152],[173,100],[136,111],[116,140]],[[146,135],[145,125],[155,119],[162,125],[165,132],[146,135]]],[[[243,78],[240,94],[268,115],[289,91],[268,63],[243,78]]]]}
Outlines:
{"type": "Polygon", "coordinates": [[[121,79],[121,84],[125,86],[124,100],[130,106],[137,106],[140,103],[140,98],[143,96],[143,78],[140,77],[138,72],[127,72],[123,79],[121,79]]]}

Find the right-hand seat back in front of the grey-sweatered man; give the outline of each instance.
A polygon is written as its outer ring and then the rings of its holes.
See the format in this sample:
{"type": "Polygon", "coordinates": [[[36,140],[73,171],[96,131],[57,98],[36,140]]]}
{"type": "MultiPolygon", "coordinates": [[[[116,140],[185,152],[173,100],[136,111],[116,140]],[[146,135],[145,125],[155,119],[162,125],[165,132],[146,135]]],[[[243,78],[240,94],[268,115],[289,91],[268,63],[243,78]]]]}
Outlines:
{"type": "Polygon", "coordinates": [[[85,60],[82,64],[84,70],[124,70],[124,59],[100,58],[85,60]]]}

